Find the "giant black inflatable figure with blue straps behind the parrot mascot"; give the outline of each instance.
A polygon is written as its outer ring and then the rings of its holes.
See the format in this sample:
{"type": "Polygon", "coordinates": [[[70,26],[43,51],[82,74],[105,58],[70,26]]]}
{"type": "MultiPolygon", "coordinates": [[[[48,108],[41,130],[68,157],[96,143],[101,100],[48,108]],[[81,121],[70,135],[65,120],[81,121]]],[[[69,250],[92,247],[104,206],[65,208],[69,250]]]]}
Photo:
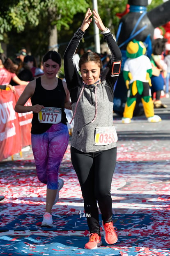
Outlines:
{"type": "MultiPolygon", "coordinates": [[[[133,39],[144,42],[147,47],[147,56],[150,57],[154,41],[154,29],[170,21],[170,0],[149,12],[147,12],[148,0],[129,0],[128,4],[130,5],[129,13],[120,19],[116,35],[117,44],[122,52],[121,70],[123,70],[126,61],[127,44],[133,39]]],[[[114,91],[113,110],[115,113],[123,114],[126,98],[127,89],[121,71],[114,91]]],[[[133,115],[140,115],[140,102],[141,99],[137,99],[133,115]]]]}

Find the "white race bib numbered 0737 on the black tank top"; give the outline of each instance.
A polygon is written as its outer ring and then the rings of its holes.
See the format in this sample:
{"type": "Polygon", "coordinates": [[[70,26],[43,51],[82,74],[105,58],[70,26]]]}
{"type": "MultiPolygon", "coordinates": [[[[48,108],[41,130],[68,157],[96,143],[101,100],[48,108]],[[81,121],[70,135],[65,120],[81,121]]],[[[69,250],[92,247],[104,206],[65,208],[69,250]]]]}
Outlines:
{"type": "Polygon", "coordinates": [[[61,108],[42,108],[38,113],[38,120],[44,124],[58,124],[61,122],[61,108]]]}

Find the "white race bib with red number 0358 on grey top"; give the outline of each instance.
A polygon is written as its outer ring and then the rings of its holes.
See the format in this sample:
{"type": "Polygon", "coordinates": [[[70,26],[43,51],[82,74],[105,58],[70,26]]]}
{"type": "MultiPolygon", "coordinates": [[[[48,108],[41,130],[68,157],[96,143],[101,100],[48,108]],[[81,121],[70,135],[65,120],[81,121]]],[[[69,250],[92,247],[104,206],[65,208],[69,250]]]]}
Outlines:
{"type": "Polygon", "coordinates": [[[109,145],[117,141],[117,133],[114,126],[96,127],[94,145],[109,145]]]}

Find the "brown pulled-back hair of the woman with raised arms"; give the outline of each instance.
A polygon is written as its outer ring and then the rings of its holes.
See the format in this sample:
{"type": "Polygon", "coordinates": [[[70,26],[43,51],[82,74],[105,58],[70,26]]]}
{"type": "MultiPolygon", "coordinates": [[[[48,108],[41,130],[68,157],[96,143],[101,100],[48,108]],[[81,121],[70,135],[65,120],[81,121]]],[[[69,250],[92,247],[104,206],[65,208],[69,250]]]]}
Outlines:
{"type": "Polygon", "coordinates": [[[85,52],[80,57],[79,68],[81,69],[81,65],[89,61],[94,61],[99,66],[99,68],[103,67],[103,63],[101,61],[99,54],[96,54],[95,52],[85,52]]]}

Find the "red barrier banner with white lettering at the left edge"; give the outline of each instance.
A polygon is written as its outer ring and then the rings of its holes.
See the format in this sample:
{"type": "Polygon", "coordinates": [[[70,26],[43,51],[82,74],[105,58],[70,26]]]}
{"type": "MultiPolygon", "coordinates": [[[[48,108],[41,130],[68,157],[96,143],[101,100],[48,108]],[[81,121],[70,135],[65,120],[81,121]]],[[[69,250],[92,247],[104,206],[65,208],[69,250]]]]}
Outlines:
{"type": "MultiPolygon", "coordinates": [[[[0,90],[0,161],[31,145],[32,112],[20,114],[14,110],[16,100],[25,87],[15,88],[16,94],[11,90],[0,90]]],[[[30,100],[26,104],[29,106],[30,100]]]]}

